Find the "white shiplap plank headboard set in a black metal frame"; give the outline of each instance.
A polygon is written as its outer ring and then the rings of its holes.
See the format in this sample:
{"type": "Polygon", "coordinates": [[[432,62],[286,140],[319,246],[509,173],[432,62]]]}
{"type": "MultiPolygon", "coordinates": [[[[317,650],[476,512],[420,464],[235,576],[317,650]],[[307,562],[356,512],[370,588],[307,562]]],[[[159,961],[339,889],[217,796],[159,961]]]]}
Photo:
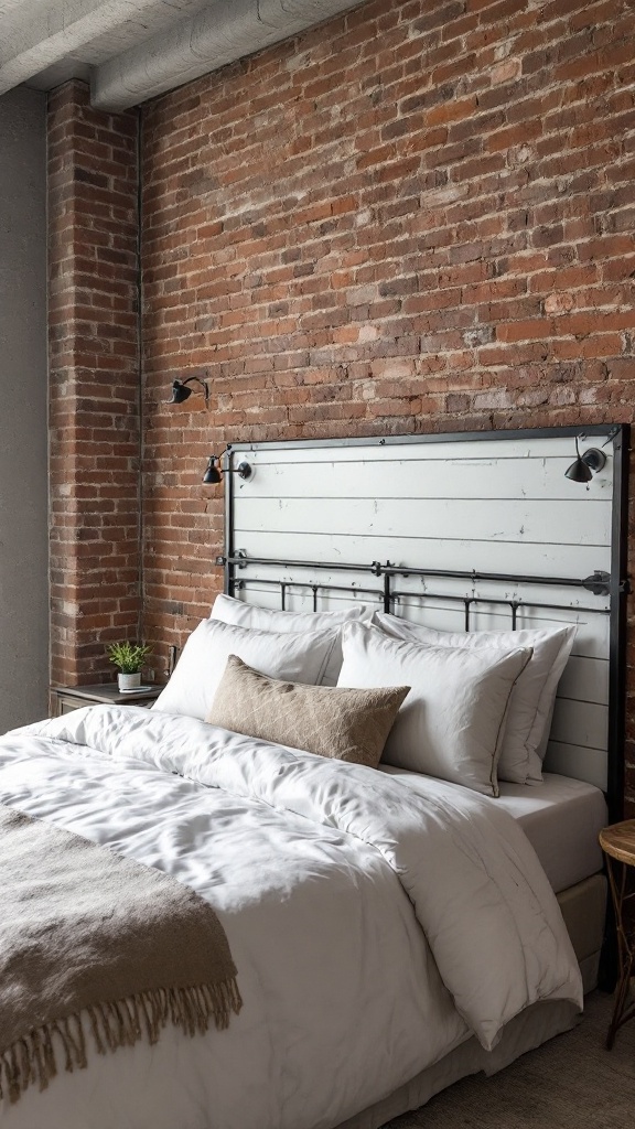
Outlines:
{"type": "Polygon", "coordinates": [[[252,473],[225,475],[225,588],[322,610],[353,592],[441,630],[575,623],[546,764],[618,816],[627,449],[621,425],[236,445],[226,465],[252,473]],[[588,484],[565,476],[576,436],[607,455],[588,484]]]}

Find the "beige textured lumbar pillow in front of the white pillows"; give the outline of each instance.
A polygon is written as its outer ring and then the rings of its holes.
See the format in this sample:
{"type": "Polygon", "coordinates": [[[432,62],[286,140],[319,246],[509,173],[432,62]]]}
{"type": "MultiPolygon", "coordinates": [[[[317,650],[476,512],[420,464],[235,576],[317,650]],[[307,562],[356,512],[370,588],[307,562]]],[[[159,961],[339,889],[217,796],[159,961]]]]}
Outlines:
{"type": "Polygon", "coordinates": [[[206,721],[376,768],[409,686],[348,690],[281,682],[229,655],[206,721]]]}

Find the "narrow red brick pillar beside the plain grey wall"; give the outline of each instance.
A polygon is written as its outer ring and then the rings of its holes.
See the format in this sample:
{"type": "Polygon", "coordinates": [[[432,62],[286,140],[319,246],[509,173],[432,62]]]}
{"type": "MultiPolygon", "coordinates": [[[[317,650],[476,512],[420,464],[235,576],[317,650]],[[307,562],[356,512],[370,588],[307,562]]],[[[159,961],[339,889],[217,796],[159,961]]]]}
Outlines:
{"type": "Polygon", "coordinates": [[[49,107],[52,679],[114,671],[140,614],[138,115],[49,107]]]}

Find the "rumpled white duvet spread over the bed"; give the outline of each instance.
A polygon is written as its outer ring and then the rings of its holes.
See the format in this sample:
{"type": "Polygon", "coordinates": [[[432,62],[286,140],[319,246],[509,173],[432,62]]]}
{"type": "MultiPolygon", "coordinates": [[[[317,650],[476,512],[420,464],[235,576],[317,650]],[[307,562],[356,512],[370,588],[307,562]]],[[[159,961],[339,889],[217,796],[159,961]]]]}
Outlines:
{"type": "Polygon", "coordinates": [[[331,1129],[537,1000],[582,1006],[533,850],[476,793],[97,706],[2,738],[0,803],[208,899],[244,1000],[227,1031],[93,1054],[7,1129],[331,1129]]]}

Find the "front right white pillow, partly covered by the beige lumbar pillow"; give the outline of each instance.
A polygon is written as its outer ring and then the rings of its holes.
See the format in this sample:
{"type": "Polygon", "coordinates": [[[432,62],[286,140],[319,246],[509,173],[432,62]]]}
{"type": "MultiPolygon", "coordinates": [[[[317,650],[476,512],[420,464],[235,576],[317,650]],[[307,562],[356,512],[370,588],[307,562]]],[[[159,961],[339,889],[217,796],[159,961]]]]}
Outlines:
{"type": "Polygon", "coordinates": [[[382,761],[497,796],[496,762],[515,680],[530,659],[466,647],[421,647],[346,623],[339,686],[411,686],[382,761]]]}

